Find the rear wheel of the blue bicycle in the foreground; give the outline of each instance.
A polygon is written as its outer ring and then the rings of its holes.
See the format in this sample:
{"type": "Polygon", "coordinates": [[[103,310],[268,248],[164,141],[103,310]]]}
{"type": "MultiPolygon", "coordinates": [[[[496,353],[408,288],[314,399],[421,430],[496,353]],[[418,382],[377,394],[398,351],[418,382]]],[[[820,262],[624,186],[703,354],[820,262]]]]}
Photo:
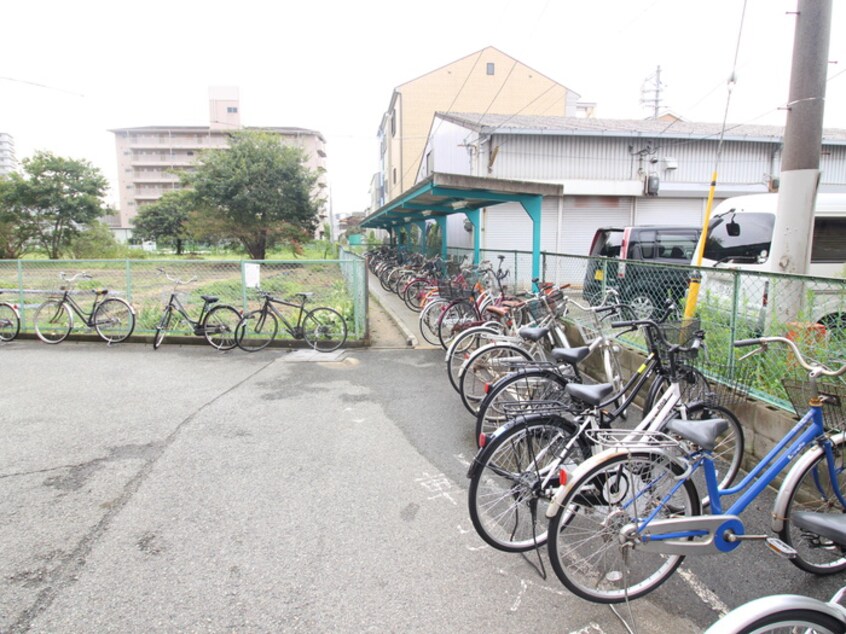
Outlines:
{"type": "Polygon", "coordinates": [[[610,455],[575,480],[549,525],[549,558],[561,582],[588,601],[620,603],[666,581],[684,557],[645,552],[635,527],[652,513],[655,519],[700,513],[690,480],[670,493],[682,473],[664,454],[633,450],[610,455]]]}

